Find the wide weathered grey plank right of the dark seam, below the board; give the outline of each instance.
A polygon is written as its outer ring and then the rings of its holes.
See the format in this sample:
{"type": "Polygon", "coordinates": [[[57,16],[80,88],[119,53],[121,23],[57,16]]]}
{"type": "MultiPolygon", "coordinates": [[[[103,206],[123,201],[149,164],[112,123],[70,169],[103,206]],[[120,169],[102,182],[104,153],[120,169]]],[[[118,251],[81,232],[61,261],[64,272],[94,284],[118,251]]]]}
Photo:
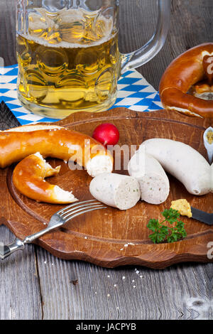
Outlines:
{"type": "Polygon", "coordinates": [[[38,271],[45,319],[212,318],[212,264],[136,273],[65,262],[39,249],[38,271]]]}

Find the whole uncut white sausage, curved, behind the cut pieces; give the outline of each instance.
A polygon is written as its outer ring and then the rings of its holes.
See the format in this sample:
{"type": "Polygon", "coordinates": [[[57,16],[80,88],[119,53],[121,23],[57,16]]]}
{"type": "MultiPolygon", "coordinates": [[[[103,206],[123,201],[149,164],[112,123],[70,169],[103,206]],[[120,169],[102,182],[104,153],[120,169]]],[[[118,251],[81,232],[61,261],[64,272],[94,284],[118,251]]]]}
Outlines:
{"type": "Polygon", "coordinates": [[[211,191],[211,167],[207,160],[191,146],[170,139],[148,139],[140,149],[146,149],[161,166],[178,178],[193,195],[211,191]]]}

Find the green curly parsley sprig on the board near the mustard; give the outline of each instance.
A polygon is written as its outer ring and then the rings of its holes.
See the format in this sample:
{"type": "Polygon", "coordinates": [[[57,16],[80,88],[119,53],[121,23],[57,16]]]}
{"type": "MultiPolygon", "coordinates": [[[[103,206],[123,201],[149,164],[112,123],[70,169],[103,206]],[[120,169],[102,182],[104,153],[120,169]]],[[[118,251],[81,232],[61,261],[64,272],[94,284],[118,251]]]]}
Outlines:
{"type": "Polygon", "coordinates": [[[148,222],[148,229],[153,233],[149,235],[154,244],[159,244],[160,242],[176,242],[180,239],[187,237],[187,232],[185,231],[184,222],[179,220],[180,213],[174,209],[166,209],[162,212],[165,218],[163,222],[159,220],[151,219],[148,222]],[[168,227],[164,225],[165,222],[169,222],[173,227],[168,227]]]}

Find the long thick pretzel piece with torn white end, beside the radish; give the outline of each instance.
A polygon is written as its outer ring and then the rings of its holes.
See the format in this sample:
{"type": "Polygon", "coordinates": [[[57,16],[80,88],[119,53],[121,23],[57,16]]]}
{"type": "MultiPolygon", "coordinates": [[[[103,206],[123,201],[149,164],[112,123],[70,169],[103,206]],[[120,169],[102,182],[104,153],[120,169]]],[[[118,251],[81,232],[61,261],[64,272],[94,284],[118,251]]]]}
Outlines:
{"type": "Polygon", "coordinates": [[[0,168],[40,152],[44,157],[77,161],[90,176],[110,173],[113,158],[98,141],[86,134],[54,125],[28,125],[0,131],[0,168]]]}

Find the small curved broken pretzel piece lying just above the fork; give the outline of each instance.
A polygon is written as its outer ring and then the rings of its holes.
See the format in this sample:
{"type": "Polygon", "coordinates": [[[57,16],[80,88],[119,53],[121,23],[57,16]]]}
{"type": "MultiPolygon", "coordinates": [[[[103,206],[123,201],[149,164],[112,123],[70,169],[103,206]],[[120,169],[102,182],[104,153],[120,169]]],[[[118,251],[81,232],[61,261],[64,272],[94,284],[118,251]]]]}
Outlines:
{"type": "Polygon", "coordinates": [[[60,172],[60,166],[52,168],[40,153],[24,158],[13,171],[13,183],[28,198],[45,203],[66,204],[76,202],[72,192],[62,190],[44,180],[60,172]]]}

